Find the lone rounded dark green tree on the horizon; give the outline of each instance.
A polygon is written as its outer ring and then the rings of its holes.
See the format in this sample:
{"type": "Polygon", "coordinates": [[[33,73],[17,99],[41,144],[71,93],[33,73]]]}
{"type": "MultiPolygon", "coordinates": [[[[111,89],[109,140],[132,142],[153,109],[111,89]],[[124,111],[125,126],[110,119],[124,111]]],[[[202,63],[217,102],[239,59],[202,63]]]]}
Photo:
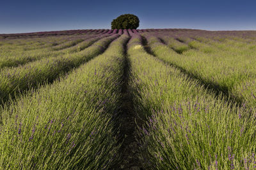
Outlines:
{"type": "Polygon", "coordinates": [[[137,29],[140,20],[136,15],[124,14],[111,22],[111,29],[137,29]]]}

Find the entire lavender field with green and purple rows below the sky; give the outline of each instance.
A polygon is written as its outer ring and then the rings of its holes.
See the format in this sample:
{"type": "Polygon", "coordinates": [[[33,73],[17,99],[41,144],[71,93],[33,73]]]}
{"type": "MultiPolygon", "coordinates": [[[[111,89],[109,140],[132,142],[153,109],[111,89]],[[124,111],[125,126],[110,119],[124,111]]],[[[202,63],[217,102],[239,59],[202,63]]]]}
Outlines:
{"type": "Polygon", "coordinates": [[[0,169],[256,169],[256,31],[0,34],[0,169]]]}

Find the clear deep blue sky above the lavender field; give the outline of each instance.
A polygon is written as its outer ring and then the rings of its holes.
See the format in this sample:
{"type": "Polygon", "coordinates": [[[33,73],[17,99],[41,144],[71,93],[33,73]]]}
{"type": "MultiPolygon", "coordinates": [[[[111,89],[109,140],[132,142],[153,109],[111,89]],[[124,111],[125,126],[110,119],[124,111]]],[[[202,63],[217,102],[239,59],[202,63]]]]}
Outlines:
{"type": "Polygon", "coordinates": [[[138,29],[256,30],[255,0],[1,0],[0,34],[110,29],[125,13],[140,18],[138,29]]]}

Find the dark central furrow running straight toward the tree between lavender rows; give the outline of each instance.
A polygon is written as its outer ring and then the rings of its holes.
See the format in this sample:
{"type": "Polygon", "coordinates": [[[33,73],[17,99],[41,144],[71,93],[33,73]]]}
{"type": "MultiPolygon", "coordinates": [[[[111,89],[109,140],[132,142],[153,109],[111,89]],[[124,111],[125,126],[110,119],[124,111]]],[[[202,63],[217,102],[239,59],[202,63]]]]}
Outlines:
{"type": "MultiPolygon", "coordinates": [[[[130,39],[130,38],[129,38],[130,39]]],[[[127,39],[127,41],[129,40],[127,39]]],[[[132,92],[129,87],[130,64],[127,58],[127,43],[124,45],[124,73],[122,80],[122,104],[120,108],[120,136],[122,143],[120,150],[120,161],[116,162],[110,169],[140,169],[138,162],[138,143],[136,141],[136,122],[138,117],[134,111],[132,103],[132,92]]]]}

